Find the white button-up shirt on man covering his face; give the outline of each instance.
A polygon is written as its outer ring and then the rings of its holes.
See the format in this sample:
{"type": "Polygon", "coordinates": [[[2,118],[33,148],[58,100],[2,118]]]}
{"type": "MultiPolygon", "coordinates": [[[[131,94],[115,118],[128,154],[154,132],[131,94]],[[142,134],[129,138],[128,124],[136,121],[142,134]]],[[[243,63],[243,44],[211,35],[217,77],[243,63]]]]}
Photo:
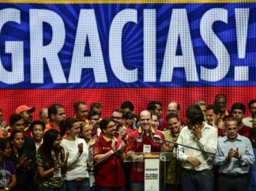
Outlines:
{"type": "MultiPolygon", "coordinates": [[[[218,141],[217,129],[208,125],[207,123],[204,123],[204,128],[202,128],[201,131],[202,137],[198,140],[198,138],[195,137],[192,131],[188,128],[188,126],[186,126],[180,131],[180,136],[177,140],[177,143],[182,145],[188,145],[190,147],[215,154],[218,141]]],[[[202,171],[212,168],[212,158],[214,155],[207,154],[202,151],[197,151],[195,149],[179,145],[177,156],[178,159],[182,161],[182,167],[188,170],[195,171],[202,171]],[[194,167],[189,162],[186,162],[187,157],[197,158],[201,162],[201,165],[194,167]]]]}

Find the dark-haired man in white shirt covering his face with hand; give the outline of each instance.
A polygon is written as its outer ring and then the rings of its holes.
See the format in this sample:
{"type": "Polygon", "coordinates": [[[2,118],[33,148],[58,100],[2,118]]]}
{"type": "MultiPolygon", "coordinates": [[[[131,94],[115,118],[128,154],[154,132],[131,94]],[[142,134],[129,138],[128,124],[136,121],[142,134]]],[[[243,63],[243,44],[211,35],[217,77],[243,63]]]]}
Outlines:
{"type": "Polygon", "coordinates": [[[199,106],[186,110],[186,124],[180,131],[177,143],[201,151],[178,146],[178,159],[182,161],[183,168],[182,190],[213,191],[212,157],[217,148],[218,132],[216,128],[204,123],[204,114],[199,106]]]}

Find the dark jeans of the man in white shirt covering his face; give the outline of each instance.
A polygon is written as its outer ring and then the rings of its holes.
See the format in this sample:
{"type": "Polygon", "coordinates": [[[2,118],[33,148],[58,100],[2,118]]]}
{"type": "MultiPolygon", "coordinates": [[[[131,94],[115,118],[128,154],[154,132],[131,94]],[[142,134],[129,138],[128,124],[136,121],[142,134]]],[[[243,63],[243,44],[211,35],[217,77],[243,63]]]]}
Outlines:
{"type": "Polygon", "coordinates": [[[214,176],[212,170],[188,171],[182,169],[182,191],[213,191],[214,176]]]}

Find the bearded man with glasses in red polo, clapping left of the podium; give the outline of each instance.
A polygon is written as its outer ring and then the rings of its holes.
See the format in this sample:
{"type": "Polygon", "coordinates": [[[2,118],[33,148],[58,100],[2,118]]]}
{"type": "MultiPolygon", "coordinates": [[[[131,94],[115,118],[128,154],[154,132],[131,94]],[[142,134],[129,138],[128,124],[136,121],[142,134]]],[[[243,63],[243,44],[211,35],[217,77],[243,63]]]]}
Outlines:
{"type": "MultiPolygon", "coordinates": [[[[102,136],[93,145],[95,162],[103,160],[125,144],[123,140],[115,137],[116,125],[112,119],[102,119],[99,122],[99,127],[102,130],[102,136]]],[[[118,187],[118,191],[125,191],[125,174],[122,167],[125,157],[126,154],[119,151],[95,166],[96,191],[105,191],[106,188],[115,191],[116,187],[118,187]]]]}

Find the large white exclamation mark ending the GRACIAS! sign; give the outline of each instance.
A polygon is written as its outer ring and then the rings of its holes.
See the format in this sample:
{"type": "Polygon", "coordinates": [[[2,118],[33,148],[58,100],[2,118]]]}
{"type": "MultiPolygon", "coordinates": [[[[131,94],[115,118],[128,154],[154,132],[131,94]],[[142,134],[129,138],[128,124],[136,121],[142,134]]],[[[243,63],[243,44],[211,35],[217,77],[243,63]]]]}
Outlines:
{"type": "MultiPolygon", "coordinates": [[[[247,41],[249,8],[235,9],[235,15],[238,57],[240,59],[244,59],[247,41]]],[[[248,66],[235,66],[235,81],[248,81],[248,69],[248,66]]]]}

